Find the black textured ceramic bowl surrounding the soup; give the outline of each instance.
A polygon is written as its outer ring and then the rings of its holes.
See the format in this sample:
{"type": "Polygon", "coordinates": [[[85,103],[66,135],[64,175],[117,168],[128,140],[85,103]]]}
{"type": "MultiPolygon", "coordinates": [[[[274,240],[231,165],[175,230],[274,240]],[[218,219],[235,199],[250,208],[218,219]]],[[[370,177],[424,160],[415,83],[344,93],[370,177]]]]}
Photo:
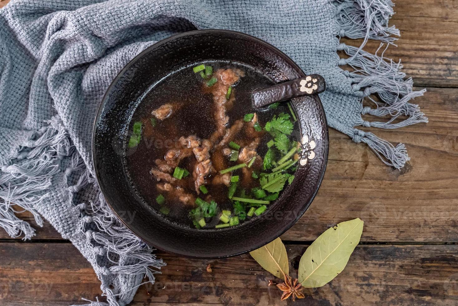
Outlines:
{"type": "Polygon", "coordinates": [[[280,50],[244,33],[199,30],[166,38],[131,60],[108,88],[94,123],[93,164],[106,202],[140,239],[158,249],[186,257],[229,257],[274,240],[310,206],[326,168],[327,123],[317,95],[292,100],[299,116],[301,135],[306,135],[316,145],[312,145],[315,147],[313,154],[310,146],[305,147],[302,158],[307,159],[307,163],[298,167],[292,184],[262,215],[239,226],[218,230],[196,230],[163,219],[132,191],[122,162],[121,144],[127,137],[129,118],[138,98],[171,71],[203,60],[243,63],[276,82],[305,76],[280,50]]]}

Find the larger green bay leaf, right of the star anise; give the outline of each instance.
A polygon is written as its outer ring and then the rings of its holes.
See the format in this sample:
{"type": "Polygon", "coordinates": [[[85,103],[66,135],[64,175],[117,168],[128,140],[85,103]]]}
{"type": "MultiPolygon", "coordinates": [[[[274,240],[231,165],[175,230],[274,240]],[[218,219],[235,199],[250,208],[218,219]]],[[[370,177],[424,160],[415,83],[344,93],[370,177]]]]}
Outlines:
{"type": "Polygon", "coordinates": [[[300,284],[321,287],[342,272],[360,242],[363,224],[359,218],[341,222],[316,238],[300,258],[300,284]]]}

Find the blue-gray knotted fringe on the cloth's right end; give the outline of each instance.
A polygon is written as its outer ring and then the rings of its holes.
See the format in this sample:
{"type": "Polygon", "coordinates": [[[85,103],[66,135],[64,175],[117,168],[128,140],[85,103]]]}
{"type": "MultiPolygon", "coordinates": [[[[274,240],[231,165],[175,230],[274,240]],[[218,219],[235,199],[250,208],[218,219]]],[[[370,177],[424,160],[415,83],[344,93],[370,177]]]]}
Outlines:
{"type": "MultiPolygon", "coordinates": [[[[393,15],[393,2],[391,0],[335,0],[331,2],[337,8],[336,19],[340,27],[338,36],[364,38],[360,47],[340,43],[337,48],[349,55],[349,58],[339,59],[338,65],[349,65],[354,69],[353,71],[343,70],[342,73],[351,83],[354,95],[361,98],[361,115],[390,117],[386,122],[366,121],[361,118],[355,122],[355,126],[395,129],[419,122],[428,122],[418,105],[409,103],[411,99],[422,96],[425,90],[413,91],[413,81],[411,78],[405,79],[405,73],[401,71],[401,63],[393,62],[384,56],[388,44],[393,44],[393,41],[397,39],[391,35],[399,35],[395,27],[388,26],[389,18],[393,15]],[[380,40],[387,43],[387,46],[383,49],[382,43],[375,54],[368,53],[363,50],[368,39],[380,40]],[[377,95],[379,99],[375,100],[371,98],[371,95],[377,95]],[[372,101],[376,108],[363,107],[365,98],[372,101]],[[398,120],[400,116],[407,116],[407,118],[398,120]]],[[[372,133],[358,129],[350,131],[349,135],[355,142],[367,143],[387,165],[400,169],[409,160],[402,143],[395,147],[372,133]]]]}

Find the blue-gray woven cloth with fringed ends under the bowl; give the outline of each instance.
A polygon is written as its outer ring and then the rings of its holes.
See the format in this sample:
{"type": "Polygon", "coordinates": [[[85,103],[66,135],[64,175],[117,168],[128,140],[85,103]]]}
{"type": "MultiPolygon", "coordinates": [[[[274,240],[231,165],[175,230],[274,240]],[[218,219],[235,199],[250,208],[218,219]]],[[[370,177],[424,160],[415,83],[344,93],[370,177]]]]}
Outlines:
{"type": "Polygon", "coordinates": [[[33,227],[15,213],[32,212],[39,226],[44,217],[92,264],[110,305],[130,302],[145,276],[154,281],[164,263],[120,224],[98,191],[91,131],[105,90],[129,60],[194,29],[249,33],[306,73],[321,74],[329,126],[403,167],[403,144],[357,127],[426,122],[409,103],[423,91],[412,91],[400,64],[383,57],[384,47],[377,55],[339,43],[346,36],[391,44],[398,35],[388,26],[392,7],[390,0],[12,0],[0,10],[0,226],[29,239],[33,227]],[[346,64],[354,71],[339,67],[346,64]]]}

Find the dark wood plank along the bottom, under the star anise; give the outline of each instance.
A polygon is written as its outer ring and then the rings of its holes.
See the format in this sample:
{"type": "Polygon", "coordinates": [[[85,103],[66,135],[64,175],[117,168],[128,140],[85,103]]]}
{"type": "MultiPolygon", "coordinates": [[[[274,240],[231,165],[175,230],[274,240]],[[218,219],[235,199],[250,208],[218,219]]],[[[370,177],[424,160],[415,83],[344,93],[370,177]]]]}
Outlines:
{"type": "MultiPolygon", "coordinates": [[[[296,268],[305,248],[287,245],[296,268]]],[[[91,266],[71,244],[0,243],[0,255],[1,305],[68,305],[100,294],[91,266]]],[[[279,290],[267,286],[273,276],[249,255],[159,257],[168,266],[157,274],[155,285],[139,288],[132,305],[286,305],[279,301],[279,290]]],[[[306,299],[295,305],[456,305],[457,260],[456,245],[358,246],[336,279],[306,289],[306,299]]]]}

